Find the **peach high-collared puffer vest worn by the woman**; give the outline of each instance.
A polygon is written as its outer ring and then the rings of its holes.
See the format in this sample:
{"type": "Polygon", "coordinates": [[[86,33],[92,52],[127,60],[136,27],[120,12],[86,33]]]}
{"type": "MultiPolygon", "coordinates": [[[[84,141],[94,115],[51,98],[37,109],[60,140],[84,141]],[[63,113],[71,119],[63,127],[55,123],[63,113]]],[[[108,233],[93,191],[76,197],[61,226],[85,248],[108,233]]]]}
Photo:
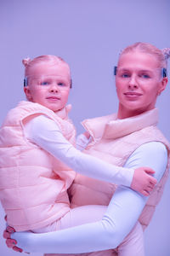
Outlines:
{"type": "MultiPolygon", "coordinates": [[[[155,108],[128,119],[116,120],[116,114],[111,114],[82,122],[82,125],[94,138],[85,152],[116,166],[124,166],[133,151],[144,143],[156,141],[166,145],[168,152],[167,170],[150,195],[139,217],[139,222],[143,225],[143,228],[150,223],[155,207],[161,199],[170,161],[170,145],[156,127],[157,119],[158,113],[155,108]]],[[[115,189],[116,185],[111,183],[100,182],[77,174],[69,190],[71,206],[108,205],[115,189]]]]}

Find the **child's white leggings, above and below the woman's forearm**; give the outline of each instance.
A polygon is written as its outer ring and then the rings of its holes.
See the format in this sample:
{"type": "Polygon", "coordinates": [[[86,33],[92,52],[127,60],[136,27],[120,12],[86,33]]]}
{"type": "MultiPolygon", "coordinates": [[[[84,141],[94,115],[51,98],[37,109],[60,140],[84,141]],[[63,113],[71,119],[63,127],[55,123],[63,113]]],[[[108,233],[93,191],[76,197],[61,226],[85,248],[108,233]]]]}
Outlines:
{"type": "MultiPolygon", "coordinates": [[[[67,212],[63,218],[55,221],[53,224],[33,230],[36,233],[51,232],[56,230],[63,230],[80,224],[92,223],[99,221],[105,214],[105,206],[84,206],[71,209],[67,212]]],[[[139,222],[135,224],[133,230],[125,237],[119,247],[116,250],[106,250],[94,253],[81,253],[81,254],[44,254],[44,256],[144,256],[144,238],[143,230],[139,222]]]]}

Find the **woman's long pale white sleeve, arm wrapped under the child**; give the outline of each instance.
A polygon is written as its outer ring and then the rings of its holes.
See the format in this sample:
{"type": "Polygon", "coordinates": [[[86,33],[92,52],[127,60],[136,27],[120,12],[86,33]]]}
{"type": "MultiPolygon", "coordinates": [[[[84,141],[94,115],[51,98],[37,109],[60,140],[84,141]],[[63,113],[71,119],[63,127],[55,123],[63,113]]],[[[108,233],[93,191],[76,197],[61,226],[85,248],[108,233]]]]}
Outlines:
{"type": "MultiPolygon", "coordinates": [[[[167,166],[167,149],[161,143],[146,143],[131,155],[125,166],[137,168],[141,164],[154,168],[155,177],[160,180],[167,166]]],[[[12,238],[27,252],[88,253],[114,248],[133,229],[146,201],[144,195],[120,186],[99,222],[45,234],[16,232],[12,238]]]]}

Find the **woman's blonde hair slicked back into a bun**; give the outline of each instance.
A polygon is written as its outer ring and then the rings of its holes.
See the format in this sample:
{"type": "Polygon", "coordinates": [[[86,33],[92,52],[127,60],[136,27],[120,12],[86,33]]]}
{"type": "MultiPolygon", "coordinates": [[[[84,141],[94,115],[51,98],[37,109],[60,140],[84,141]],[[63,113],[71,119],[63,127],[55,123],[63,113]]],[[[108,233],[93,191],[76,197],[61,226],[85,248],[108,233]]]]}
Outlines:
{"type": "Polygon", "coordinates": [[[158,49],[156,46],[149,43],[138,42],[135,44],[131,44],[122,50],[120,57],[123,54],[132,52],[132,51],[140,51],[144,53],[148,53],[150,55],[155,55],[158,61],[158,66],[161,68],[167,68],[167,59],[170,57],[170,48],[158,49]]]}

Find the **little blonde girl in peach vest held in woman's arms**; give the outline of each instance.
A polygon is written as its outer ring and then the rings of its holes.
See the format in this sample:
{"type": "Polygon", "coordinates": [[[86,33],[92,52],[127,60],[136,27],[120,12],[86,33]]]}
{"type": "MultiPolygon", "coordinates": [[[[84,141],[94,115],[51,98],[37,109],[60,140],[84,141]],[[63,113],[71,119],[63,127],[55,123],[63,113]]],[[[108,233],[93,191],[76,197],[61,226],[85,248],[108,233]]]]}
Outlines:
{"type": "MultiPolygon", "coordinates": [[[[9,111],[0,131],[0,198],[8,224],[17,231],[42,233],[98,219],[105,207],[70,208],[67,189],[75,177],[71,169],[150,195],[156,184],[156,179],[147,174],[153,173],[150,168],[133,171],[112,166],[74,148],[76,132],[65,107],[71,88],[70,68],[65,61],[42,55],[23,62],[28,102],[20,102],[9,111]]],[[[89,224],[90,230],[96,234],[97,225],[99,234],[106,231],[115,247],[118,230],[111,230],[109,223],[104,217],[103,224],[89,224]]],[[[85,247],[80,251],[87,252],[88,225],[82,231],[80,227],[77,236],[80,232],[86,234],[85,247]]],[[[95,244],[96,236],[90,236],[90,240],[95,244]]],[[[101,239],[101,244],[111,247],[106,240],[101,239]]],[[[46,250],[42,248],[42,252],[46,250]]],[[[74,253],[69,245],[68,253],[74,253]]]]}

